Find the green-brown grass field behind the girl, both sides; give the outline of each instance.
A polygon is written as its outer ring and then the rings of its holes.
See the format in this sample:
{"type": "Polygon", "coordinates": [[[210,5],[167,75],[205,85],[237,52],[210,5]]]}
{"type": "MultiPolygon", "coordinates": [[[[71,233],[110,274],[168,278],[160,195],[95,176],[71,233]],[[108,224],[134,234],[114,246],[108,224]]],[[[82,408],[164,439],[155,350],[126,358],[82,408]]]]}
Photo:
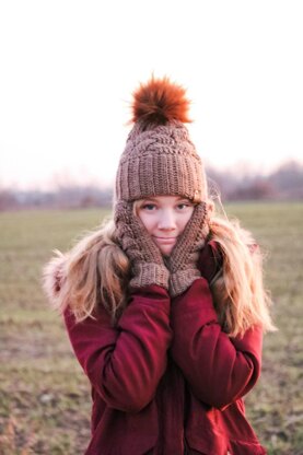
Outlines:
{"type": "MultiPolygon", "coordinates": [[[[246,399],[269,454],[303,454],[303,205],[228,206],[268,252],[266,283],[279,331],[266,336],[261,378],[246,399]]],[[[104,213],[0,214],[0,455],[82,454],[90,387],[40,290],[51,249],[66,250],[104,213]]]]}

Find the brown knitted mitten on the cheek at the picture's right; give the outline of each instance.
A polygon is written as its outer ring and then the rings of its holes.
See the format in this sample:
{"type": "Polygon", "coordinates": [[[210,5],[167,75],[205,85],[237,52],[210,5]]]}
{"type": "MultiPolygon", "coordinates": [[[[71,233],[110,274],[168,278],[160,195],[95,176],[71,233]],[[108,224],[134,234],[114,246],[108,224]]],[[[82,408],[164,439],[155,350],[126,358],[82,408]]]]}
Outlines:
{"type": "Polygon", "coordinates": [[[182,294],[190,287],[193,281],[201,276],[197,268],[197,261],[198,252],[205,246],[209,233],[206,215],[206,203],[198,203],[167,260],[171,272],[170,294],[172,298],[182,294]]]}

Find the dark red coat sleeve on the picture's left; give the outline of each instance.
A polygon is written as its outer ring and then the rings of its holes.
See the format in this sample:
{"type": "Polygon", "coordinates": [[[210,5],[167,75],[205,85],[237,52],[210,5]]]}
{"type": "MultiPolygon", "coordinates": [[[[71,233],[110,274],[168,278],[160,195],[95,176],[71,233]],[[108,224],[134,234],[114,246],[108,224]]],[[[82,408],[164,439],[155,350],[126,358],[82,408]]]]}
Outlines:
{"type": "Polygon", "coordinates": [[[116,327],[104,307],[78,324],[66,311],[74,353],[107,406],[138,412],[153,398],[172,339],[170,310],[167,291],[153,284],[136,290],[116,327]]]}

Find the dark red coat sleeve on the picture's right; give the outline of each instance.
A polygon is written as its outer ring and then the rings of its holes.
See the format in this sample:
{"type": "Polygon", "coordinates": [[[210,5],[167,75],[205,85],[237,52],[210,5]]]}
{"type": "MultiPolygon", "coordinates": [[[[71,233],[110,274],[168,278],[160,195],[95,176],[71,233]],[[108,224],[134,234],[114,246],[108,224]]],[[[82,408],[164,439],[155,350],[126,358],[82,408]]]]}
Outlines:
{"type": "Polygon", "coordinates": [[[260,374],[263,331],[254,327],[242,338],[223,332],[206,279],[194,281],[174,300],[172,328],[171,353],[198,399],[223,409],[255,385],[260,374]]]}

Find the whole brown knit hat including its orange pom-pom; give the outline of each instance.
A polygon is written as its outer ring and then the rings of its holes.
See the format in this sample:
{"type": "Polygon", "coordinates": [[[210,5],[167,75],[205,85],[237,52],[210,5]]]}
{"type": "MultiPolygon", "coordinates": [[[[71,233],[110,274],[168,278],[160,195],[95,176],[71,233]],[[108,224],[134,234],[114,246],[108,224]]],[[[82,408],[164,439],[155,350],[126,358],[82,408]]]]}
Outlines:
{"type": "Polygon", "coordinates": [[[152,79],[133,93],[131,129],[116,176],[116,201],[179,195],[207,198],[201,159],[184,122],[189,101],[180,85],[152,79]]]}

